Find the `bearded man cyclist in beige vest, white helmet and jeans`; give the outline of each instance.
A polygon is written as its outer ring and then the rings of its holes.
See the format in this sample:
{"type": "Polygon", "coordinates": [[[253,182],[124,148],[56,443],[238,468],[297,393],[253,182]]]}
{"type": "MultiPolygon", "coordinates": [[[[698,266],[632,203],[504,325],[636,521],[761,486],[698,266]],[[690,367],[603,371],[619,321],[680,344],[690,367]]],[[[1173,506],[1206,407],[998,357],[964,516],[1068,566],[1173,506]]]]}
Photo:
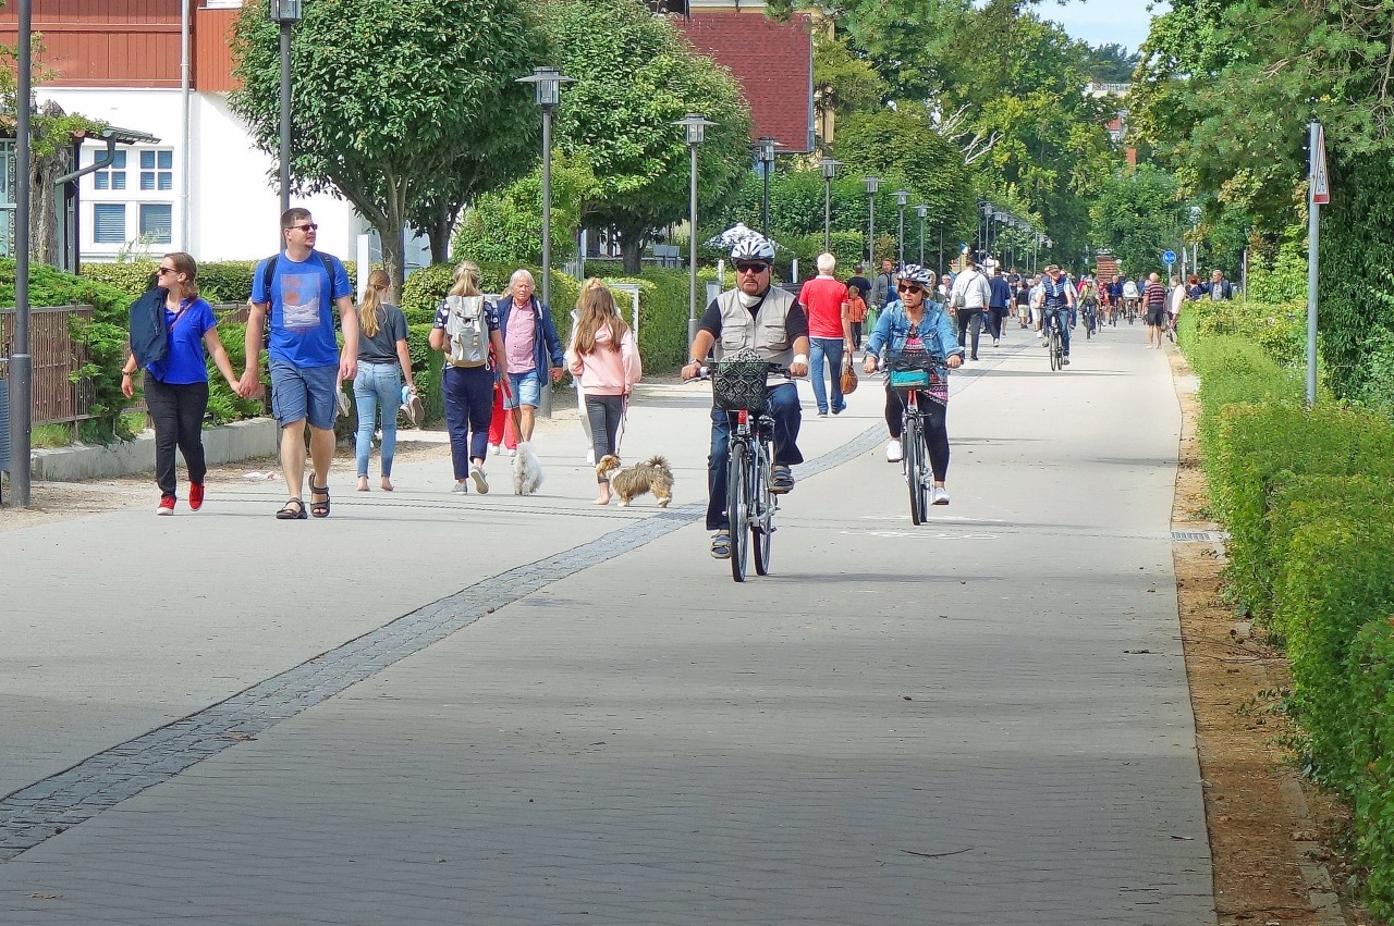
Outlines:
{"type": "MultiPolygon", "coordinates": [[[[707,354],[715,347],[717,359],[750,347],[769,363],[789,368],[789,375],[771,373],[769,415],[775,421],[775,465],[771,492],[793,489],[789,468],[803,462],[799,453],[799,390],[789,376],[809,373],[809,319],[793,295],[771,285],[775,246],[753,235],[730,249],[736,267],[736,288],[726,290],[707,306],[693,338],[683,379],[697,379],[707,354]]],[[[730,416],[711,409],[711,455],[707,457],[707,529],[712,531],[711,554],[730,558],[730,519],[726,515],[726,464],[730,460],[730,416]]]]}

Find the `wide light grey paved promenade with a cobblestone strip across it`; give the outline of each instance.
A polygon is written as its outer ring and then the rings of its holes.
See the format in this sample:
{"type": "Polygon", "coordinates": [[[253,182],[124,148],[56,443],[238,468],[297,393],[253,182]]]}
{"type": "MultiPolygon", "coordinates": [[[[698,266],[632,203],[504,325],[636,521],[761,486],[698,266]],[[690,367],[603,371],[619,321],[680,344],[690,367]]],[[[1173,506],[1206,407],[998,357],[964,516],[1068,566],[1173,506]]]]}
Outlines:
{"type": "Polygon", "coordinates": [[[1023,334],[955,377],[921,528],[880,383],[800,384],[744,585],[704,384],[631,409],[666,512],[549,423],[539,497],[435,460],[325,521],[248,483],[0,532],[0,923],[1213,923],[1165,355],[1023,334]]]}

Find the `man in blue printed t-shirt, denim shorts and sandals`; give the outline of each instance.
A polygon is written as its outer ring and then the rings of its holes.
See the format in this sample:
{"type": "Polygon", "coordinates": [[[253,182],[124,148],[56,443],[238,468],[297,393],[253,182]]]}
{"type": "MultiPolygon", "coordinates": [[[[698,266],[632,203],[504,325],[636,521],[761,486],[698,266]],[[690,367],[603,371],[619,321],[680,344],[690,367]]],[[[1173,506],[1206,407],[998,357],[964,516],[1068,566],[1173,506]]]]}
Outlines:
{"type": "Polygon", "coordinates": [[[290,500],[276,512],[282,521],[307,515],[301,500],[305,478],[305,422],[309,422],[309,514],[329,515],[329,464],[335,455],[335,407],[339,383],[358,366],[358,309],[353,285],[339,258],[315,251],[319,228],[308,209],[287,209],[280,217],[286,249],[256,265],[247,319],[247,368],[238,394],[261,387],[262,330],[270,312],[272,411],[280,425],[280,466],[290,500]],[[343,351],[335,341],[333,306],[343,319],[343,351]],[[318,483],[318,485],[316,485],[318,483]]]}

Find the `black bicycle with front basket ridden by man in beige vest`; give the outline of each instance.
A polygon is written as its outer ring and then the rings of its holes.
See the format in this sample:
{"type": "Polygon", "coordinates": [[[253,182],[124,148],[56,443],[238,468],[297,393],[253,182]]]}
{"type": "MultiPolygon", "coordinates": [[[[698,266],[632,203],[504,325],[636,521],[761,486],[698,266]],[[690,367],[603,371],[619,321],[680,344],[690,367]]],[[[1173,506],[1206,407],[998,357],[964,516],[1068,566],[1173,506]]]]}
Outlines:
{"type": "Polygon", "coordinates": [[[779,499],[774,492],[775,419],[769,414],[769,373],[789,368],[769,363],[754,351],[737,351],[711,370],[712,398],[730,418],[726,462],[726,518],[730,522],[730,578],[746,581],[750,549],[756,575],[769,574],[769,547],[779,499]]]}

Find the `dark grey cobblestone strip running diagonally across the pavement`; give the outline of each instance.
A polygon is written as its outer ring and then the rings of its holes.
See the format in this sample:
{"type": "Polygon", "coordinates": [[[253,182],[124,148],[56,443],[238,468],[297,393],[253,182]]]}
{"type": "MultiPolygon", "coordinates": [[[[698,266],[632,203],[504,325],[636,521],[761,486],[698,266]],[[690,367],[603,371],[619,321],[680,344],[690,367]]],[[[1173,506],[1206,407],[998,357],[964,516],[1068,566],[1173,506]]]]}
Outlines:
{"type": "MultiPolygon", "coordinates": [[[[880,441],[874,426],[797,468],[800,479],[832,469],[880,441]]],[[[636,521],[595,540],[482,579],[357,639],[261,681],[195,714],[112,746],[0,799],[0,863],[169,781],[197,762],[333,698],[388,666],[597,563],[623,556],[707,511],[705,501],[636,521]]]]}

